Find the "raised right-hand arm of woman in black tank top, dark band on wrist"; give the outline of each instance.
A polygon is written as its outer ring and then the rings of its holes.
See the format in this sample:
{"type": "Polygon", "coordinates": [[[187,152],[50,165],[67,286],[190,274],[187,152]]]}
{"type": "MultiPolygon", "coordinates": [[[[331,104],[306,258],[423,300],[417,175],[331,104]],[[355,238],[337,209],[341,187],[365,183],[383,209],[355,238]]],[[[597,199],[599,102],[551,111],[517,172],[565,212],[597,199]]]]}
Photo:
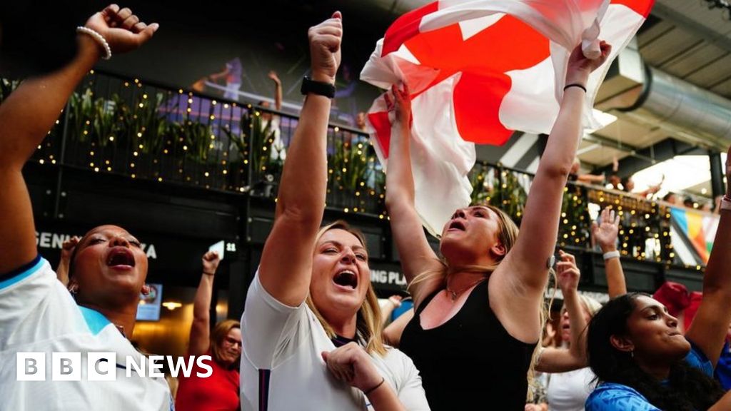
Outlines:
{"type": "Polygon", "coordinates": [[[558,236],[564,186],[581,137],[584,90],[589,74],[607,60],[611,50],[606,42],[600,47],[602,54],[596,60],[586,59],[580,46],[569,57],[561,108],[531,184],[520,235],[491,276],[491,306],[511,335],[523,342],[537,340],[542,328],[540,304],[558,236]]]}

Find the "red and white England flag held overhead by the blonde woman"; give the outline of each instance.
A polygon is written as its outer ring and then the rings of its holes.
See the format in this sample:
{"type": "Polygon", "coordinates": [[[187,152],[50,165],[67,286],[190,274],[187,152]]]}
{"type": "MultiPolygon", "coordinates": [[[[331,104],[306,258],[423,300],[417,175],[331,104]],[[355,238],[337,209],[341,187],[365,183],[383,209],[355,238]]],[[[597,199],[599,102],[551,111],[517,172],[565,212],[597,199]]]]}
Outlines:
{"type": "MultiPolygon", "coordinates": [[[[514,130],[548,134],[571,50],[581,43],[586,56],[598,56],[604,39],[612,53],[589,78],[583,118],[584,127],[599,128],[591,110],[599,84],[653,4],[441,0],[395,20],[360,78],[386,89],[409,85],[416,208],[431,233],[469,205],[474,143],[501,145],[514,130]]],[[[368,112],[368,129],[386,168],[391,120],[383,96],[368,112]]]]}

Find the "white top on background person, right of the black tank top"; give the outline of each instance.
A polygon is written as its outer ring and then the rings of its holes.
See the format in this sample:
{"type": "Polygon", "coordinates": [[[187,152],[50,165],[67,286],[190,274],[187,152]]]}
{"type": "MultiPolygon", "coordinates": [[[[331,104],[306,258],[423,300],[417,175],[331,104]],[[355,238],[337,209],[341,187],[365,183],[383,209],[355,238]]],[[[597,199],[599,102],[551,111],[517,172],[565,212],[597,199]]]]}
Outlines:
{"type": "Polygon", "coordinates": [[[594,373],[589,367],[549,374],[546,396],[550,411],[584,411],[584,403],[594,391],[594,373]]]}

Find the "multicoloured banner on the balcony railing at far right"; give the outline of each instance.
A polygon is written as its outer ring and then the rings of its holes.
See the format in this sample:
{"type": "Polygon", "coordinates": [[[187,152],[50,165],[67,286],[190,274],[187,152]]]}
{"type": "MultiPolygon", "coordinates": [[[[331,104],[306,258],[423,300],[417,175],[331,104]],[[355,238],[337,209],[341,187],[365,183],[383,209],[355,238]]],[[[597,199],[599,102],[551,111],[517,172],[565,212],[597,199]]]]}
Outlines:
{"type": "MultiPolygon", "coordinates": [[[[691,208],[670,208],[670,216],[678,227],[678,234],[683,236],[686,244],[692,246],[694,254],[703,264],[708,263],[708,256],[713,248],[713,238],[719,227],[719,216],[696,211],[691,208]]],[[[684,244],[673,244],[673,248],[684,244]]]]}

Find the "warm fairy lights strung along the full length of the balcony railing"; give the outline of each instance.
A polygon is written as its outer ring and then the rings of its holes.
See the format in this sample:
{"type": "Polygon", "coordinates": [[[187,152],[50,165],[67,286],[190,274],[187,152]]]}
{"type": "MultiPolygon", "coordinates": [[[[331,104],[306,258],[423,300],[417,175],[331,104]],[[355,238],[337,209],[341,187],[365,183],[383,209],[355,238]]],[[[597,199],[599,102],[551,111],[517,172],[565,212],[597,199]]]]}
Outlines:
{"type": "MultiPolygon", "coordinates": [[[[262,121],[260,110],[251,105],[205,99],[183,89],[178,89],[177,93],[164,90],[162,94],[167,99],[163,99],[158,95],[161,94],[159,89],[152,92],[138,79],[121,83],[122,91],[132,95],[127,100],[132,104],[127,104],[124,99],[110,95],[108,90],[105,95],[95,96],[94,83],[99,77],[90,72],[86,94],[72,98],[67,106],[70,110],[67,121],[75,121],[78,129],[69,124],[61,127],[64,125],[64,116],[61,116],[56,121],[58,127],[38,146],[39,164],[57,164],[61,132],[70,132],[64,162],[82,165],[94,173],[123,174],[160,183],[182,182],[251,195],[262,195],[252,190],[256,184],[263,182],[276,186],[279,181],[281,167],[277,169],[268,162],[273,135],[265,135],[258,130],[260,126],[255,127],[262,121]],[[96,111],[92,110],[88,118],[77,118],[80,108],[75,104],[91,105],[96,111]],[[114,118],[101,118],[110,113],[114,118]],[[151,113],[153,118],[149,117],[151,113]],[[163,113],[162,117],[159,113],[163,113]],[[104,133],[105,137],[99,133],[104,133]],[[232,149],[235,139],[240,146],[232,149]],[[69,152],[74,151],[84,155],[69,156],[69,152]],[[123,164],[121,157],[124,156],[127,158],[123,164]],[[250,164],[252,160],[254,164],[250,164]],[[252,173],[251,182],[248,173],[252,173]]],[[[388,219],[384,204],[385,177],[370,143],[363,136],[340,127],[331,127],[328,134],[327,206],[346,214],[388,219]]],[[[473,201],[499,205],[519,223],[530,179],[527,173],[480,165],[471,175],[473,201]]],[[[267,195],[276,201],[276,189],[267,195]]],[[[617,211],[621,219],[619,241],[624,257],[665,265],[673,263],[675,250],[670,241],[669,209],[662,204],[602,189],[567,186],[559,246],[591,248],[590,203],[599,208],[610,206],[617,211]]],[[[700,265],[695,268],[702,269],[700,265]]]]}

